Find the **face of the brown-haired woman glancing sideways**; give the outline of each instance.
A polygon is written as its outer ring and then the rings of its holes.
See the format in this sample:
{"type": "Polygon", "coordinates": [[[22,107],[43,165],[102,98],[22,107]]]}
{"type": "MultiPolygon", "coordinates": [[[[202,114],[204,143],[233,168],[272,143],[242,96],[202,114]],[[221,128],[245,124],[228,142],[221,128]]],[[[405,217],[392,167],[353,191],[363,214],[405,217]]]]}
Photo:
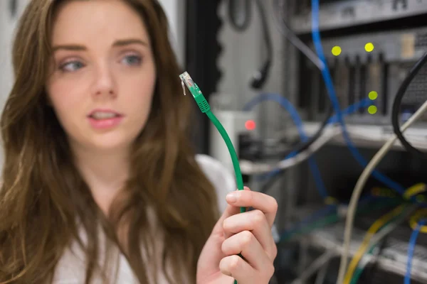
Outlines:
{"type": "Polygon", "coordinates": [[[73,147],[128,148],[156,81],[147,29],[125,1],[65,1],[56,13],[48,98],[73,147]]]}

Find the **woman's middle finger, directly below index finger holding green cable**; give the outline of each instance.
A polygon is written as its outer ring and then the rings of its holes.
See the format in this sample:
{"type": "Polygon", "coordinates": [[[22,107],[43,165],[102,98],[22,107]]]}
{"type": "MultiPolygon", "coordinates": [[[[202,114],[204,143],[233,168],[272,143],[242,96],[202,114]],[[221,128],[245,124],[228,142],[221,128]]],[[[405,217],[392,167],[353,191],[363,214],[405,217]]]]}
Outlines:
{"type": "Polygon", "coordinates": [[[258,209],[228,217],[223,222],[223,230],[226,239],[241,231],[251,231],[271,260],[277,254],[270,225],[265,214],[258,209]]]}

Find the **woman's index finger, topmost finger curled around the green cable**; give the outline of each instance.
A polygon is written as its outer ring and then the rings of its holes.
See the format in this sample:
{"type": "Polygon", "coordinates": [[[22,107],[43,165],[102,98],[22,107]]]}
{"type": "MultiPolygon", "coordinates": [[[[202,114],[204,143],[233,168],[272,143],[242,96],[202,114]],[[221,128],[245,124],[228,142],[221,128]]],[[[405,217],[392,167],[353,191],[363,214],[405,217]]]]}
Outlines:
{"type": "Polygon", "coordinates": [[[233,207],[253,207],[264,212],[268,224],[273,226],[278,211],[278,202],[269,195],[251,190],[238,190],[228,193],[226,200],[233,207]]]}

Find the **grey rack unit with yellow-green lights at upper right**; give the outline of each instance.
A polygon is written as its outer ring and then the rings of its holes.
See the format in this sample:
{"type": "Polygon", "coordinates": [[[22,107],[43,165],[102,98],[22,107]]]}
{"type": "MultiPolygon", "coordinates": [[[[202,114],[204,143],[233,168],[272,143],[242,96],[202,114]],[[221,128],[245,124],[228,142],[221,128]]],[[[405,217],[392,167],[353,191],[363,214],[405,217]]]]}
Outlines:
{"type": "MultiPolygon", "coordinates": [[[[413,63],[427,51],[427,28],[325,38],[322,43],[341,107],[374,98],[376,109],[357,111],[347,121],[389,125],[399,85],[413,63]],[[367,51],[367,44],[373,50],[367,51]],[[339,55],[332,55],[334,47],[341,49],[339,55]]],[[[298,107],[305,110],[308,121],[321,121],[330,104],[325,84],[317,68],[302,55],[300,63],[298,107]]],[[[427,67],[423,67],[403,99],[402,120],[427,99],[426,89],[427,67]]],[[[421,119],[422,123],[427,123],[427,117],[421,119]]]]}

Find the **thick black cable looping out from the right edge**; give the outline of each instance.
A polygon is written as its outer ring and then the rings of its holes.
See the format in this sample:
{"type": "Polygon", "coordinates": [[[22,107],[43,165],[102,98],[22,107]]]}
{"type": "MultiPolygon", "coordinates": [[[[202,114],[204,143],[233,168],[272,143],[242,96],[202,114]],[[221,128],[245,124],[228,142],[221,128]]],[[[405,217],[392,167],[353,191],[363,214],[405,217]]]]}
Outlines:
{"type": "Polygon", "coordinates": [[[424,64],[426,64],[426,62],[427,53],[425,53],[408,72],[408,75],[404,79],[404,82],[402,82],[401,86],[399,87],[399,90],[397,91],[396,97],[394,97],[393,109],[391,110],[391,124],[393,125],[393,131],[396,134],[397,138],[399,138],[401,144],[404,146],[404,148],[406,148],[406,151],[413,155],[421,156],[423,158],[427,158],[427,154],[413,147],[411,143],[406,140],[404,134],[401,132],[399,126],[399,113],[402,98],[404,97],[406,89],[408,89],[409,84],[411,84],[413,78],[418,74],[419,70],[421,69],[421,67],[423,67],[424,64]]]}

